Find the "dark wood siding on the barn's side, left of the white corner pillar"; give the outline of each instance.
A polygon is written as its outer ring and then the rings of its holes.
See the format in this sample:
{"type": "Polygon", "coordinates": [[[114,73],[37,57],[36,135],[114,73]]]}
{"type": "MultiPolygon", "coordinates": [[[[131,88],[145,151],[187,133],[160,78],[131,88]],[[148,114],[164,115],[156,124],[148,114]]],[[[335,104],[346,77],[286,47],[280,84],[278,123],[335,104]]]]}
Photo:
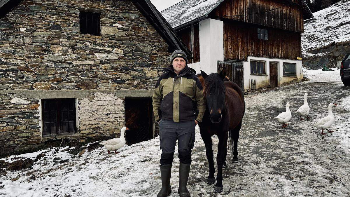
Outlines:
{"type": "Polygon", "coordinates": [[[190,27],[181,29],[176,33],[177,33],[177,36],[179,36],[179,38],[182,40],[182,42],[185,43],[186,47],[193,53],[193,59],[188,60],[189,61],[188,63],[199,62],[200,61],[199,24],[196,24],[193,27],[190,26],[190,27]],[[193,32],[192,32],[192,28],[193,28],[193,32]]]}

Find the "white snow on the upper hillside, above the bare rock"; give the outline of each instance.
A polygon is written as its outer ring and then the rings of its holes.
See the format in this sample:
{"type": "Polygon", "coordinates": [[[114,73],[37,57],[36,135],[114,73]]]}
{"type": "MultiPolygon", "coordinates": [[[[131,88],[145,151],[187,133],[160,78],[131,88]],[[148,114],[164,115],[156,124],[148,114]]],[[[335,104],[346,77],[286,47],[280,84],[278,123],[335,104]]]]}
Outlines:
{"type": "MultiPolygon", "coordinates": [[[[312,56],[310,50],[330,45],[332,42],[350,40],[350,1],[342,0],[313,13],[315,18],[304,21],[301,37],[303,56],[312,56]]],[[[317,54],[323,55],[323,54],[317,54]]]]}

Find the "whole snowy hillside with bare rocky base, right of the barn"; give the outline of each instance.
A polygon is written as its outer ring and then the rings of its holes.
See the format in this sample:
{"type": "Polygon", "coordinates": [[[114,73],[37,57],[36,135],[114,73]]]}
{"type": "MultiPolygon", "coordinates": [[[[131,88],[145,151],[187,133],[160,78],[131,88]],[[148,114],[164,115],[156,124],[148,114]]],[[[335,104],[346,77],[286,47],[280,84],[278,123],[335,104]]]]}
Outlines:
{"type": "Polygon", "coordinates": [[[313,13],[304,21],[302,34],[303,64],[312,69],[324,65],[336,67],[350,52],[350,1],[338,3],[313,13]]]}

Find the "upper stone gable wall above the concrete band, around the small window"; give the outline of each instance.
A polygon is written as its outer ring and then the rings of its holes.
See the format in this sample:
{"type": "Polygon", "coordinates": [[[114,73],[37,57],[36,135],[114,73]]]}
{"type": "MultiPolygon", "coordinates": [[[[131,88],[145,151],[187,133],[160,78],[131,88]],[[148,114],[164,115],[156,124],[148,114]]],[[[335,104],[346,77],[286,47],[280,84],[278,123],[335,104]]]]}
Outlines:
{"type": "Polygon", "coordinates": [[[151,89],[169,56],[127,0],[25,0],[0,31],[0,89],[151,89]],[[101,12],[101,36],[80,34],[79,10],[101,12]]]}

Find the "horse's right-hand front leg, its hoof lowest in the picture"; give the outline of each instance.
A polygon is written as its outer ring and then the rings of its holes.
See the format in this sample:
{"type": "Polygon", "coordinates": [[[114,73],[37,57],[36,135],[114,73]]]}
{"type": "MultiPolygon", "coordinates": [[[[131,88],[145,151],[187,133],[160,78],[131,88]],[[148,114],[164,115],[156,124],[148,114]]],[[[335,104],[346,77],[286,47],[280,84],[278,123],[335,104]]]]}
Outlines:
{"type": "Polygon", "coordinates": [[[225,132],[225,134],[222,134],[222,135],[218,135],[219,145],[218,145],[218,155],[216,156],[216,162],[218,165],[218,174],[216,175],[216,185],[214,188],[214,193],[222,192],[222,166],[225,161],[228,137],[229,137],[228,132],[225,132]]]}

